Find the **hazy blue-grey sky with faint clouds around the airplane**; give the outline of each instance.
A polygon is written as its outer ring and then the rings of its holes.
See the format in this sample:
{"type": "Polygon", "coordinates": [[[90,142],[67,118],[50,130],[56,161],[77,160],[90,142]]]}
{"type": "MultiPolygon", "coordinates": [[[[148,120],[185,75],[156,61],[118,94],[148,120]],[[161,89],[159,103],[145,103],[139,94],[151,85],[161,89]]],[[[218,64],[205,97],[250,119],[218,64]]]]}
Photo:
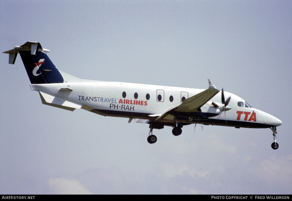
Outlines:
{"type": "Polygon", "coordinates": [[[218,89],[272,131],[153,130],[43,105],[0,54],[0,194],[291,194],[292,1],[0,1],[0,49],[40,42],[82,79],[218,89]]]}

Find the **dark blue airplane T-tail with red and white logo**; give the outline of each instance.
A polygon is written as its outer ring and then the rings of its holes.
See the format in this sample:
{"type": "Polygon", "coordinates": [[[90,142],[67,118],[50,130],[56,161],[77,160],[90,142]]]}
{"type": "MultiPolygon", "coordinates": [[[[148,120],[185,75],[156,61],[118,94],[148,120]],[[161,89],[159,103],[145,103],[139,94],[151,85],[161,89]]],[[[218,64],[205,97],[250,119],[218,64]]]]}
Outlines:
{"type": "Polygon", "coordinates": [[[32,84],[63,83],[63,76],[47,56],[48,52],[50,50],[43,49],[38,42],[27,42],[4,53],[9,54],[9,64],[14,64],[20,54],[32,84]]]}

